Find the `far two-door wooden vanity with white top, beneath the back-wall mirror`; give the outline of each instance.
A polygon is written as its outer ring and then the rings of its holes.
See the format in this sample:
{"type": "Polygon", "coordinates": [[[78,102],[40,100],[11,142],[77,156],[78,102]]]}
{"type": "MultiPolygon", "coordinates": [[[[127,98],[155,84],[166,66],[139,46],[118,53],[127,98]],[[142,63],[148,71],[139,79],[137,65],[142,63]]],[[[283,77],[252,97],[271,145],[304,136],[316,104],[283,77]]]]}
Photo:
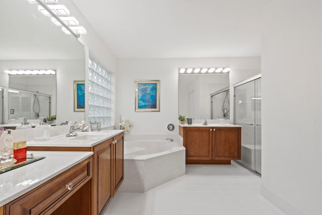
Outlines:
{"type": "Polygon", "coordinates": [[[230,164],[241,159],[241,127],[232,124],[183,124],[179,134],[186,164],[230,164]]]}

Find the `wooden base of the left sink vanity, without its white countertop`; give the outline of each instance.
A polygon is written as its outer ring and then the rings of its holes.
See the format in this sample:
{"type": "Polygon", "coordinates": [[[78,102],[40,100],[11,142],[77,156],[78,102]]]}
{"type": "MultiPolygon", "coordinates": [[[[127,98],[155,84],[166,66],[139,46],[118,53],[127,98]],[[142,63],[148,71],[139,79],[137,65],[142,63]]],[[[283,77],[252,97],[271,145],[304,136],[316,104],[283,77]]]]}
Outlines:
{"type": "Polygon", "coordinates": [[[94,147],[27,147],[30,151],[92,151],[94,171],[91,184],[91,214],[100,214],[123,181],[124,132],[94,147]]]}

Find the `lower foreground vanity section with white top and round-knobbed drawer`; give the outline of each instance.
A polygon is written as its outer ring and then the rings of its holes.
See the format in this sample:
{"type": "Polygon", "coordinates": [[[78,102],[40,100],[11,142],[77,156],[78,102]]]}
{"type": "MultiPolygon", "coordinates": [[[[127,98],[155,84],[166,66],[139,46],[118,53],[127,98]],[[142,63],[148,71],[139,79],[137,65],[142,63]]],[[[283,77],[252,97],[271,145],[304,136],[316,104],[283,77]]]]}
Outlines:
{"type": "Polygon", "coordinates": [[[0,214],[91,214],[93,153],[33,153],[46,158],[0,174],[0,214]]]}

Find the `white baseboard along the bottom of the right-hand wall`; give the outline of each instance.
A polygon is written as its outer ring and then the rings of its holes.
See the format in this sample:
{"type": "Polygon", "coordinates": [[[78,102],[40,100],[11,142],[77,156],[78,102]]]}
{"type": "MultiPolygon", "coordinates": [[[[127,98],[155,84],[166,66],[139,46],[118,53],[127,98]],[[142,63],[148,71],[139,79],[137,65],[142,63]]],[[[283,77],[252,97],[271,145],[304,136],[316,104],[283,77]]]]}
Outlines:
{"type": "Polygon", "coordinates": [[[261,185],[261,194],[287,215],[308,215],[263,184],[261,185]]]}

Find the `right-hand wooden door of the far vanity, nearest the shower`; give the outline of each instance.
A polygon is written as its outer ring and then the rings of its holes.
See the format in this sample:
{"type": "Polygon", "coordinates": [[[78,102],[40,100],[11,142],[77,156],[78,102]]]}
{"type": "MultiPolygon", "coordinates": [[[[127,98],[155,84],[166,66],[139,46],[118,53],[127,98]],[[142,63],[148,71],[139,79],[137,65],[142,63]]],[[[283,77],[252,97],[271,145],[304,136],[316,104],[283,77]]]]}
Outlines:
{"type": "Polygon", "coordinates": [[[215,127],[212,132],[213,154],[216,160],[240,160],[240,127],[215,127]]]}

